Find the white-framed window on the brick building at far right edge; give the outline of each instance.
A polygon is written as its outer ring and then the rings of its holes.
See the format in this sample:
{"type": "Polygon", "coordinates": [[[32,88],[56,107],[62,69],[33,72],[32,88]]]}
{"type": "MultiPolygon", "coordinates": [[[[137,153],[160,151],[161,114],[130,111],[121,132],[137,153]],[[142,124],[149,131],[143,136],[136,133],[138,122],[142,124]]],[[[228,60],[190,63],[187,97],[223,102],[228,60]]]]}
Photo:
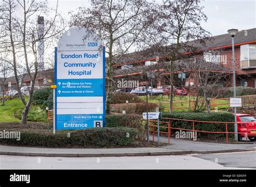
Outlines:
{"type": "Polygon", "coordinates": [[[240,46],[241,69],[256,68],[256,45],[240,46]]]}

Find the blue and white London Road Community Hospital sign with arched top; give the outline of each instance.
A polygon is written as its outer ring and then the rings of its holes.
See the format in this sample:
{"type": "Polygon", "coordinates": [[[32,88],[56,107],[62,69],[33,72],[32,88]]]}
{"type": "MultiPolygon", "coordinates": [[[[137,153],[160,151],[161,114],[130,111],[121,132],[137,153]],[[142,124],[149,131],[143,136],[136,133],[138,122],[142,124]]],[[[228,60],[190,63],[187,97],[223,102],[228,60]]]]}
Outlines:
{"type": "Polygon", "coordinates": [[[105,50],[86,28],[66,31],[55,48],[56,129],[105,126],[105,50]]]}

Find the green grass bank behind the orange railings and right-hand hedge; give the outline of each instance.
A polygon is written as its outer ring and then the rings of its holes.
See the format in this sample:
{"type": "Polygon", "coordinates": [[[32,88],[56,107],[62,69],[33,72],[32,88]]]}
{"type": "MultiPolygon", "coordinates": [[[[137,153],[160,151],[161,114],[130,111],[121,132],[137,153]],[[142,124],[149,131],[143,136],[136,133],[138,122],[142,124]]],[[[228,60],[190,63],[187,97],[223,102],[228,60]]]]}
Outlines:
{"type": "MultiPolygon", "coordinates": [[[[146,96],[140,96],[140,98],[142,98],[143,100],[146,100],[146,96]]],[[[173,102],[174,102],[174,111],[188,111],[190,103],[189,101],[189,96],[175,96],[173,98],[173,102]],[[178,103],[178,102],[183,102],[183,103],[178,103]],[[175,109],[176,107],[184,107],[181,109],[175,109]]],[[[168,96],[152,96],[149,97],[149,102],[151,103],[164,103],[161,104],[164,108],[164,112],[169,112],[169,97],[168,96]]],[[[225,103],[229,103],[227,99],[220,99],[220,100],[215,100],[215,107],[218,107],[218,109],[227,109],[229,107],[229,104],[225,104],[225,103]]],[[[192,103],[191,103],[192,104],[192,103]]],[[[213,106],[212,106],[213,109],[213,106]]]]}

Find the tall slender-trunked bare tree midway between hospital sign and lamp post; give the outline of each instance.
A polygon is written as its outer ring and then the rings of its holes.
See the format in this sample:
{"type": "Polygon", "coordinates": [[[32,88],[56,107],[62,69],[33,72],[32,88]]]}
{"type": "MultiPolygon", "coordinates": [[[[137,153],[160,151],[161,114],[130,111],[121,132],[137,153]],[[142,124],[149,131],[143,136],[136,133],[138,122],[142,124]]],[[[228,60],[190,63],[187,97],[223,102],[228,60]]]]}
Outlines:
{"type": "MultiPolygon", "coordinates": [[[[207,17],[199,5],[200,0],[166,0],[161,5],[158,21],[158,30],[162,34],[162,44],[157,49],[163,50],[170,60],[170,112],[173,103],[173,63],[183,57],[185,52],[197,51],[197,46],[190,45],[190,40],[203,40],[209,33],[201,27],[201,21],[206,21],[207,17]],[[186,42],[185,42],[186,41],[186,42]]],[[[186,57],[187,58],[187,57],[186,57]]]]}

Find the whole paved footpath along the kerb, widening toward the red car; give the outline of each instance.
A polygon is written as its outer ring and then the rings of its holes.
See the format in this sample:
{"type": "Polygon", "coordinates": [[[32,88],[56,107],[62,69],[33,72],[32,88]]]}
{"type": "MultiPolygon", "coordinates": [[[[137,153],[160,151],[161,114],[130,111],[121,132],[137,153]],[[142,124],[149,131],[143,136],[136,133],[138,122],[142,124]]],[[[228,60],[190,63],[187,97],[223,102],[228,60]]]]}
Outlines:
{"type": "MultiPolygon", "coordinates": [[[[152,137],[151,137],[152,139],[152,137]]],[[[157,137],[155,138],[155,141],[157,137]]],[[[160,142],[168,139],[160,137],[160,142]]],[[[37,148],[0,145],[0,155],[50,156],[50,157],[110,157],[110,156],[156,156],[228,153],[256,150],[255,143],[210,143],[171,138],[171,145],[140,148],[37,148]]]]}

